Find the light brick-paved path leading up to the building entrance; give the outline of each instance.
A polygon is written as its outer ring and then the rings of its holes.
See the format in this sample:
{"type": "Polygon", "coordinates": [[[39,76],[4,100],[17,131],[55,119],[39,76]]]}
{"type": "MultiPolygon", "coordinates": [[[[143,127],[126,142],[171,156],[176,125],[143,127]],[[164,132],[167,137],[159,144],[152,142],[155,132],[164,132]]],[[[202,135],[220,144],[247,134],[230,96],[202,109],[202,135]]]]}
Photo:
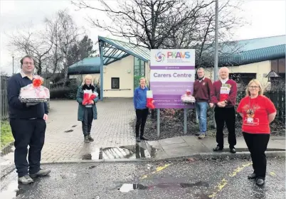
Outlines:
{"type": "Polygon", "coordinates": [[[83,156],[89,148],[115,147],[135,143],[130,126],[135,117],[132,99],[104,99],[97,102],[97,120],[92,123],[92,143],[83,143],[75,100],[53,100],[47,122],[42,161],[69,161],[83,156]]]}

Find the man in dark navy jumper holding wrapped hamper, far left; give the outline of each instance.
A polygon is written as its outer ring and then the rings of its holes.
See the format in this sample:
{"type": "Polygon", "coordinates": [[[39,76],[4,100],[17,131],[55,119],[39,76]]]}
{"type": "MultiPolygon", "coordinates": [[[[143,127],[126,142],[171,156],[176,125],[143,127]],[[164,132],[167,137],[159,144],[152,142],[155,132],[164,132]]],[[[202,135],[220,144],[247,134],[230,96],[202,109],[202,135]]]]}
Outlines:
{"type": "Polygon", "coordinates": [[[9,119],[15,140],[14,162],[18,182],[29,184],[33,183],[31,177],[46,176],[51,172],[40,167],[48,107],[44,102],[22,103],[19,100],[21,87],[33,82],[33,70],[35,69],[34,60],[29,55],[23,57],[20,63],[21,72],[13,75],[7,85],[9,119]]]}

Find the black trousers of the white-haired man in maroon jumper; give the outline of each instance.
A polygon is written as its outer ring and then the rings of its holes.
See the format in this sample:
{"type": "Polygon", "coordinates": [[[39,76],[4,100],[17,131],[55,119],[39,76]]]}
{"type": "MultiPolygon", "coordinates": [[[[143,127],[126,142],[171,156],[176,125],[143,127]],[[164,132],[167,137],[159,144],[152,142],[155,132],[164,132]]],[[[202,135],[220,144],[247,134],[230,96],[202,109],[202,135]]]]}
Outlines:
{"type": "Polygon", "coordinates": [[[233,148],[236,144],[235,137],[235,109],[230,108],[215,108],[215,120],[216,120],[216,142],[218,147],[223,148],[223,127],[226,123],[228,128],[228,144],[230,148],[233,148]]]}

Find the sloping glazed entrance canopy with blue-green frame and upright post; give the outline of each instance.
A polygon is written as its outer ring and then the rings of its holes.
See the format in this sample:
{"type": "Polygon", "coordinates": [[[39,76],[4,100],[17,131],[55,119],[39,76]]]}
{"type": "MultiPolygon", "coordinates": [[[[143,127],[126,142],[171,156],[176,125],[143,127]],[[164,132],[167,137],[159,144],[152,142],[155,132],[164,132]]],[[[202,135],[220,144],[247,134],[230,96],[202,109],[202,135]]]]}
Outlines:
{"type": "MultiPolygon", "coordinates": [[[[100,44],[100,99],[103,99],[103,66],[122,60],[129,55],[144,62],[150,60],[150,50],[124,41],[98,36],[100,44]]],[[[120,69],[118,69],[120,70],[120,69]]]]}

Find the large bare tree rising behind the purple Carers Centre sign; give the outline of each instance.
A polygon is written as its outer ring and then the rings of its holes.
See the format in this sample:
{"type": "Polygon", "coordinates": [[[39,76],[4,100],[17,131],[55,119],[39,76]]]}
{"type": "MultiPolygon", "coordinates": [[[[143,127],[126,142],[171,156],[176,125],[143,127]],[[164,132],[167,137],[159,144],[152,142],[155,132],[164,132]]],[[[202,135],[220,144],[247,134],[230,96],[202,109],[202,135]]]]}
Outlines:
{"type": "MultiPolygon", "coordinates": [[[[113,36],[149,49],[195,48],[196,65],[213,66],[215,0],[124,0],[117,1],[117,8],[112,7],[113,3],[99,1],[101,7],[86,1],[72,4],[107,14],[110,21],[92,17],[88,21],[113,36]]],[[[233,14],[239,3],[228,0],[220,6],[220,41],[228,41],[233,27],[243,23],[233,14]]]]}

